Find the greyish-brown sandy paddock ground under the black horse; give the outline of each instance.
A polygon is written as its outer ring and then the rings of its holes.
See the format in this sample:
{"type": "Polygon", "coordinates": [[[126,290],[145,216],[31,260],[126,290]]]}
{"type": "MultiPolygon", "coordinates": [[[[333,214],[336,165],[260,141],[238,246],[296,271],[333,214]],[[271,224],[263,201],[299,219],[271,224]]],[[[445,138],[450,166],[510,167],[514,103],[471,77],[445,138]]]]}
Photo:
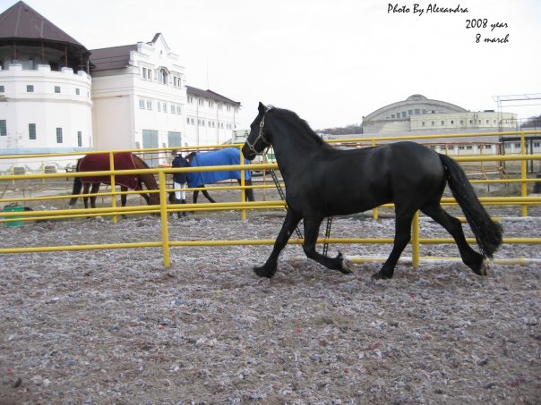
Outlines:
{"type": "MultiPolygon", "coordinates": [[[[540,216],[536,209],[532,215],[540,216]]],[[[508,214],[507,212],[503,214],[508,214]]],[[[518,215],[514,209],[511,215],[518,215]]],[[[171,218],[171,240],[274,239],[282,218],[171,218]]],[[[421,236],[447,237],[421,221],[421,236]]],[[[541,222],[503,221],[505,237],[541,222]]],[[[336,237],[391,237],[394,220],[339,218],[336,237]]],[[[469,228],[465,230],[468,234],[469,228]]],[[[0,224],[4,247],[159,240],[159,219],[0,224]]],[[[390,245],[331,246],[383,255],[390,245]]],[[[541,258],[535,245],[496,257],[541,258]]],[[[380,265],[339,274],[288,246],[3,255],[0,403],[540,403],[541,266],[380,265]]],[[[410,256],[408,248],[404,256],[410,256]]],[[[423,256],[457,256],[455,245],[423,256]]]]}

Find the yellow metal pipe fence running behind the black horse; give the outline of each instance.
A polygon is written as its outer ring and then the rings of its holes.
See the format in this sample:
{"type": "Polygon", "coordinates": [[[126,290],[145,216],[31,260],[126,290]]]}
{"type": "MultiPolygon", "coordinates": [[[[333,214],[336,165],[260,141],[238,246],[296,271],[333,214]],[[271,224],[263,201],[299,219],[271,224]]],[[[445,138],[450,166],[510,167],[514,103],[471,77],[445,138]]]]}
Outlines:
{"type": "MultiPolygon", "coordinates": [[[[520,206],[522,216],[528,215],[528,206],[534,206],[541,204],[541,197],[528,197],[528,182],[541,181],[541,179],[528,179],[527,173],[527,161],[537,161],[541,160],[541,154],[527,155],[525,148],[525,135],[541,133],[540,131],[521,131],[521,132],[496,132],[484,134],[486,136],[502,136],[502,135],[520,135],[521,137],[521,153],[516,156],[455,156],[454,159],[459,162],[485,162],[485,161],[520,161],[520,179],[499,179],[499,180],[483,180],[481,182],[499,182],[499,183],[520,183],[520,197],[491,197],[491,198],[479,198],[484,205],[504,205],[504,206],[520,206]]],[[[453,137],[468,137],[476,136],[479,137],[481,134],[460,134],[454,135],[453,137]]],[[[398,139],[427,139],[430,137],[427,136],[407,136],[407,137],[389,137],[389,138],[371,138],[371,139],[340,139],[340,143],[345,142],[366,142],[369,140],[372,143],[377,141],[384,140],[398,140],[398,139]]],[[[442,135],[434,135],[433,138],[441,139],[442,135]]],[[[218,147],[218,146],[214,146],[218,147]]],[[[220,146],[223,148],[223,146],[220,146]]],[[[239,147],[239,145],[236,145],[239,147]]],[[[205,147],[212,148],[212,147],[205,147]]],[[[176,148],[183,149],[183,148],[176,148]]],[[[193,148],[191,148],[193,150],[193,148]]],[[[139,152],[156,152],[163,151],[161,148],[156,149],[144,149],[139,152]]],[[[236,209],[241,211],[241,218],[246,219],[246,210],[256,210],[256,209],[284,209],[285,203],[283,201],[256,201],[256,202],[245,202],[245,190],[248,188],[258,189],[265,187],[274,187],[274,186],[246,186],[244,181],[245,170],[260,171],[260,170],[271,170],[279,169],[276,164],[260,164],[260,165],[228,165],[228,166],[202,166],[202,167],[189,167],[189,168],[170,168],[170,167],[153,167],[145,170],[114,170],[114,161],[113,153],[119,151],[110,151],[110,171],[102,172],[87,172],[87,173],[34,173],[34,174],[22,174],[22,175],[4,175],[0,176],[0,181],[21,181],[28,179],[56,179],[56,178],[73,178],[73,177],[82,177],[82,176],[110,176],[111,177],[111,191],[107,193],[99,193],[99,196],[110,196],[111,197],[111,207],[99,207],[94,209],[59,209],[55,211],[49,210],[37,210],[37,211],[19,211],[19,212],[2,212],[0,215],[3,216],[0,219],[0,222],[13,222],[13,221],[35,221],[35,220],[45,220],[45,219],[70,219],[70,218],[81,218],[89,216],[98,216],[98,215],[109,215],[113,218],[113,221],[116,223],[117,215],[135,215],[135,214],[150,214],[155,213],[159,214],[161,221],[161,239],[136,242],[136,243],[114,243],[114,244],[90,244],[90,245],[62,245],[62,246],[46,246],[46,247],[28,247],[28,248],[0,248],[0,254],[13,254],[13,253],[26,253],[26,252],[50,252],[50,251],[72,251],[72,250],[90,250],[90,249],[135,249],[135,248],[161,248],[163,254],[163,265],[168,267],[170,266],[170,249],[176,247],[193,247],[193,246],[229,246],[229,245],[271,245],[274,243],[274,240],[169,240],[168,235],[168,217],[167,214],[176,211],[203,211],[203,210],[231,210],[236,209]],[[167,192],[172,191],[172,189],[167,189],[167,174],[171,173],[182,173],[182,172],[213,172],[213,171],[230,171],[230,170],[240,170],[243,175],[240,186],[224,186],[216,187],[212,190],[240,190],[241,198],[240,202],[221,202],[213,204],[185,204],[182,206],[178,205],[169,205],[167,204],[167,192]],[[116,207],[116,196],[122,194],[138,194],[139,191],[126,191],[119,192],[115,188],[115,176],[116,175],[125,175],[125,174],[138,174],[138,173],[154,173],[159,178],[159,190],[145,190],[145,192],[157,192],[160,196],[160,203],[158,206],[132,206],[132,207],[116,207]]],[[[133,152],[133,151],[131,151],[133,152]]],[[[85,153],[85,155],[90,154],[85,153]]],[[[95,152],[103,153],[103,152],[95,152]]],[[[81,153],[76,154],[58,154],[59,156],[69,156],[69,155],[78,155],[81,156],[81,153]]],[[[23,157],[43,157],[44,155],[29,155],[23,157]]],[[[49,157],[51,155],[47,155],[49,157]]],[[[21,158],[21,156],[0,156],[0,159],[8,158],[21,158]]],[[[241,159],[243,162],[243,159],[241,159]]],[[[243,162],[244,163],[244,162],[243,162]]],[[[475,181],[472,181],[475,182],[475,181]]],[[[202,190],[202,189],[185,189],[185,190],[202,190]]],[[[92,194],[96,196],[97,194],[92,194]]],[[[84,197],[85,195],[79,195],[78,197],[84,197]]],[[[90,194],[86,195],[90,196],[90,194]]],[[[34,198],[0,198],[0,203],[5,202],[15,202],[15,201],[42,201],[51,198],[72,198],[72,195],[64,196],[54,196],[54,197],[34,197],[34,198]]],[[[444,205],[456,205],[454,198],[442,198],[442,204],[444,205]]],[[[382,207],[392,207],[392,205],[385,205],[382,207]]],[[[374,218],[377,218],[377,209],[374,209],[374,218]]],[[[423,238],[419,234],[419,216],[418,213],[414,219],[413,229],[412,229],[412,257],[411,263],[413,266],[418,266],[421,260],[438,260],[438,259],[453,259],[449,257],[420,257],[419,246],[423,244],[439,244],[439,243],[454,243],[454,240],[451,238],[423,238]]],[[[289,240],[290,244],[302,244],[304,240],[294,239],[289,240]]],[[[392,238],[320,238],[317,241],[318,243],[392,243],[392,238]]],[[[468,239],[469,243],[475,243],[473,238],[468,239]]],[[[503,243],[541,243],[541,238],[504,238],[503,243]]],[[[366,261],[365,258],[357,258],[357,261],[366,261]]],[[[379,261],[380,259],[374,257],[372,261],[379,261]]],[[[507,259],[506,263],[522,263],[524,259],[507,259]]],[[[354,260],[355,261],[355,260],[354,260]]],[[[500,260],[505,262],[505,260],[500,260]]]]}

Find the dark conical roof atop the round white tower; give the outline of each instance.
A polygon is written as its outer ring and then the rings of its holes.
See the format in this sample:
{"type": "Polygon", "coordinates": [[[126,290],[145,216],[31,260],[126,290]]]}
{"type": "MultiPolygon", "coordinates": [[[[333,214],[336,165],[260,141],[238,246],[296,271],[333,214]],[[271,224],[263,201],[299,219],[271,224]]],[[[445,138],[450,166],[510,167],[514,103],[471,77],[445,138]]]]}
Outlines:
{"type": "Polygon", "coordinates": [[[84,48],[24,2],[13,4],[0,14],[0,41],[6,39],[51,41],[84,48]]]}

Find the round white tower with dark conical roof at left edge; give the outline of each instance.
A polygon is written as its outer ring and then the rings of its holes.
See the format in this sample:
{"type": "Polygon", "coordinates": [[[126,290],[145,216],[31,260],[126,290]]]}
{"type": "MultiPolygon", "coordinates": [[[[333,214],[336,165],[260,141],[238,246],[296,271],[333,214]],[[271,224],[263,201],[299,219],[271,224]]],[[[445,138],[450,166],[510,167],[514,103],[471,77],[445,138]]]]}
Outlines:
{"type": "MultiPolygon", "coordinates": [[[[89,55],[27,4],[0,15],[0,155],[92,148],[89,55]]],[[[36,170],[44,159],[25,165],[36,170]]]]}

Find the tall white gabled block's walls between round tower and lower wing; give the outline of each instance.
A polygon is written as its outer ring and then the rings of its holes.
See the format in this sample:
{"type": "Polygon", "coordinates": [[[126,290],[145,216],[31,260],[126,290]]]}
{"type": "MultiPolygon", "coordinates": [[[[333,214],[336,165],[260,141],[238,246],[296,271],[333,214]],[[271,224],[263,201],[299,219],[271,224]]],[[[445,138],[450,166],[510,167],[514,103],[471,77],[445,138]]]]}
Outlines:
{"type": "Polygon", "coordinates": [[[99,150],[185,143],[185,68],[161,35],[129,51],[128,66],[92,74],[94,139],[99,150]]]}

